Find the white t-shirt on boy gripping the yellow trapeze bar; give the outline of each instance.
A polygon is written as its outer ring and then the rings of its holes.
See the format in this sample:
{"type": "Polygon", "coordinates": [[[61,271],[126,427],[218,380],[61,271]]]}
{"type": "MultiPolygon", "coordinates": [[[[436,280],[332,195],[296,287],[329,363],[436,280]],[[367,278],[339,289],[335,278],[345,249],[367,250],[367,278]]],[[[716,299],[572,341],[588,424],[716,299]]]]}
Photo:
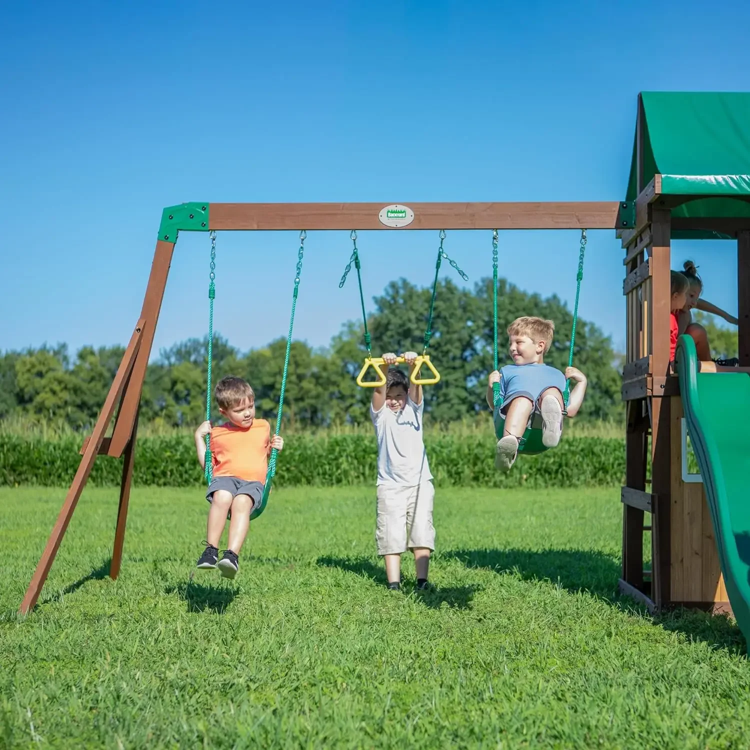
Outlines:
{"type": "Polygon", "coordinates": [[[408,396],[404,409],[392,412],[385,404],[370,416],[377,437],[377,483],[416,487],[432,478],[423,440],[425,401],[415,404],[408,396]]]}

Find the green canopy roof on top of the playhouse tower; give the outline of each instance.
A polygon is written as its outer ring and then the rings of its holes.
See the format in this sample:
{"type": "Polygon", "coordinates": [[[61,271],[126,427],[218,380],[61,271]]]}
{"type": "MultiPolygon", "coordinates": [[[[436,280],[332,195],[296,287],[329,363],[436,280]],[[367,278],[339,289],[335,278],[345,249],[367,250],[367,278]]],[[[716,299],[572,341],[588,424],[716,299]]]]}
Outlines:
{"type": "MultiPolygon", "coordinates": [[[[643,187],[658,173],[662,195],[713,196],[673,208],[673,217],[750,217],[750,93],[643,92],[640,97],[643,187]]],[[[637,127],[626,200],[635,198],[637,127]]]]}

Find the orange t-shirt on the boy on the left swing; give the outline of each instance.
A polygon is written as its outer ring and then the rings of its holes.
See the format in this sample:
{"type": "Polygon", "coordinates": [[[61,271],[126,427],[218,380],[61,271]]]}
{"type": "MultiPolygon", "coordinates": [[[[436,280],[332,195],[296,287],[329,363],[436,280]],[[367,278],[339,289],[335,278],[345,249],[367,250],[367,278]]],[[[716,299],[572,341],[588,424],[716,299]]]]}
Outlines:
{"type": "Polygon", "coordinates": [[[214,476],[265,482],[270,444],[271,425],[265,419],[254,419],[247,429],[232,424],[214,427],[211,430],[214,476]]]}

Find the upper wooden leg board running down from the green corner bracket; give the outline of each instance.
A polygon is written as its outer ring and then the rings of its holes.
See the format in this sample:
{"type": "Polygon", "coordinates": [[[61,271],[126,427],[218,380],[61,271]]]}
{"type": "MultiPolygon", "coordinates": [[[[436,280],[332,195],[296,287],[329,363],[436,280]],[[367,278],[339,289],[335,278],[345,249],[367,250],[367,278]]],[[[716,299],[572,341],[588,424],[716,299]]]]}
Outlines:
{"type": "Polygon", "coordinates": [[[127,386],[117,415],[117,423],[112,433],[110,450],[108,455],[119,457],[130,441],[133,434],[133,425],[136,420],[136,411],[140,403],[145,369],[148,365],[148,357],[151,356],[151,345],[154,343],[154,332],[159,320],[161,301],[164,298],[166,288],[166,277],[169,275],[169,265],[172,263],[172,253],[175,245],[173,242],[156,243],[154,260],[151,263],[151,275],[148,277],[148,287],[145,290],[141,317],[145,319],[143,339],[138,350],[133,372],[130,374],[130,383],[127,386]]]}

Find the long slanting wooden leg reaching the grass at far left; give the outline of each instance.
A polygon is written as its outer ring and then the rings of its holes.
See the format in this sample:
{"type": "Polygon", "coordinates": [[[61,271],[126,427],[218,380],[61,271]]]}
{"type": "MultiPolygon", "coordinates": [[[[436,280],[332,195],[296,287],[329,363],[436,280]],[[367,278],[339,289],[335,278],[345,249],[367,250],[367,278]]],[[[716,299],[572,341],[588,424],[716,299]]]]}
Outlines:
{"type": "Polygon", "coordinates": [[[104,407],[102,407],[99,413],[94,431],[86,446],[86,451],[83,452],[83,458],[78,465],[78,470],[74,476],[73,483],[71,484],[68,494],[65,496],[65,502],[62,504],[62,508],[55,522],[55,526],[52,529],[52,533],[47,539],[46,547],[42,553],[41,559],[37,564],[37,568],[34,571],[34,576],[31,577],[31,583],[28,584],[26,589],[26,595],[23,597],[21,603],[20,612],[22,614],[28,613],[39,598],[39,594],[44,585],[47,575],[49,574],[49,568],[52,567],[52,562],[55,560],[55,555],[60,547],[60,542],[65,534],[65,530],[68,529],[68,523],[71,522],[73,511],[76,509],[78,499],[83,492],[83,487],[86,486],[86,480],[89,478],[92,466],[98,455],[99,447],[104,439],[104,433],[110,425],[113,413],[115,412],[115,405],[117,404],[118,398],[124,389],[124,385],[133,370],[133,365],[136,361],[136,357],[140,350],[140,344],[145,326],[145,320],[142,318],[136,324],[136,328],[133,331],[133,335],[130,336],[130,342],[127,344],[125,353],[122,356],[117,373],[115,374],[115,380],[113,380],[112,386],[110,386],[110,392],[107,394],[107,398],[104,401],[104,407]]]}

